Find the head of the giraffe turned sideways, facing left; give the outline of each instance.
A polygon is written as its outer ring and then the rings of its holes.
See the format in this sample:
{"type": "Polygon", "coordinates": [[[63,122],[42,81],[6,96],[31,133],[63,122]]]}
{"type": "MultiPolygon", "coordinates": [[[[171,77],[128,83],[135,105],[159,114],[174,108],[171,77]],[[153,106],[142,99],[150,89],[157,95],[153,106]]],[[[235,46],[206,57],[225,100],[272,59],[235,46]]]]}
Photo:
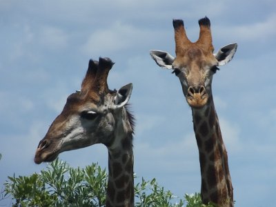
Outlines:
{"type": "Polygon", "coordinates": [[[132,83],[119,90],[109,90],[108,72],[112,61],[99,58],[89,61],[81,91],[67,98],[61,114],[52,122],[46,136],[39,142],[34,162],[52,161],[59,153],[105,144],[116,148],[115,134],[132,133],[131,117],[124,106],[132,92],[132,83]],[[118,122],[122,128],[117,129],[118,122]]]}

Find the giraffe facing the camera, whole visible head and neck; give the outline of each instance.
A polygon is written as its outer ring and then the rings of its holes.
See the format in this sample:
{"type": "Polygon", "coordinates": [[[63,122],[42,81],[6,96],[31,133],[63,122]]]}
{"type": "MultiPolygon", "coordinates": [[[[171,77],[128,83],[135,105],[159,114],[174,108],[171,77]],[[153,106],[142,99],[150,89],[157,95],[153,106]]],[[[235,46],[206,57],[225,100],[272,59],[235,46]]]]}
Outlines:
{"type": "Polygon", "coordinates": [[[193,125],[201,170],[201,198],[204,204],[233,206],[233,186],[228,168],[228,157],[221,137],[219,120],[212,95],[212,79],[218,66],[230,61],[237,43],[224,46],[213,54],[210,20],[199,20],[199,39],[191,42],[186,36],[184,21],[172,21],[175,28],[176,57],[161,50],[150,50],[150,55],[161,68],[172,69],[179,77],[186,101],[192,108],[193,125]]]}

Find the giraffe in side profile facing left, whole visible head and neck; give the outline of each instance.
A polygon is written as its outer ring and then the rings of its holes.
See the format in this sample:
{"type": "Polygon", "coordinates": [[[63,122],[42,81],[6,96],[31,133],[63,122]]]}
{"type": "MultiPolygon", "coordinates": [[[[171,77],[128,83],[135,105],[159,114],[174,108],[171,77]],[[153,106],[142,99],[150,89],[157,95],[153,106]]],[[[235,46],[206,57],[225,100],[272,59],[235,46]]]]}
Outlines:
{"type": "Polygon", "coordinates": [[[108,148],[106,206],[134,206],[132,135],[134,117],[126,104],[132,83],[108,89],[112,61],[89,61],[81,91],[70,95],[61,114],[39,142],[34,162],[53,161],[59,153],[93,144],[108,148]]]}

